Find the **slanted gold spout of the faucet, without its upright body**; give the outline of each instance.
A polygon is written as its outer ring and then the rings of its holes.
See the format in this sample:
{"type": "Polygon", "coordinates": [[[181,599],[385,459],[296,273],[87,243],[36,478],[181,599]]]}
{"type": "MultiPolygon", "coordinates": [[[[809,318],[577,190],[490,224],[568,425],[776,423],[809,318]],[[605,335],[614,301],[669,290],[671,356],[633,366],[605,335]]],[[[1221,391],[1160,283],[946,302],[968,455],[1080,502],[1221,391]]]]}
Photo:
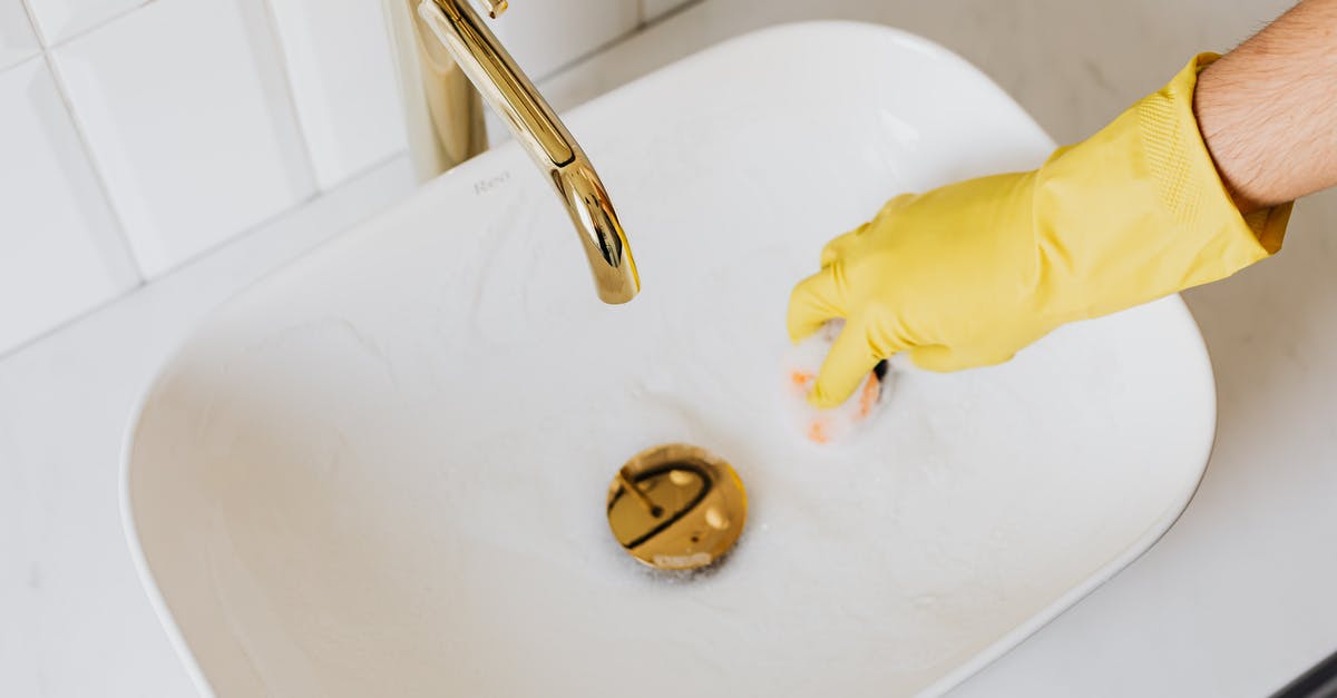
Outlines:
{"type": "Polygon", "coordinates": [[[627,235],[594,164],[562,119],[469,0],[421,0],[417,15],[501,116],[516,142],[548,175],[579,233],[599,298],[607,304],[634,298],[640,290],[640,278],[627,235]]]}

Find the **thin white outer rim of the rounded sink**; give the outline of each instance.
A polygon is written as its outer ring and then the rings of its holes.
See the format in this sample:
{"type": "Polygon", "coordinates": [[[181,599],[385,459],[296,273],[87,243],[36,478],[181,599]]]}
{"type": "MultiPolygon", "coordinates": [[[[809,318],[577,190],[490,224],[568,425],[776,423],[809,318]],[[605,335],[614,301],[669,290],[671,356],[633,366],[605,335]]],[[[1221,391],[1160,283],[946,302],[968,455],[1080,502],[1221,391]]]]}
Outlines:
{"type": "MultiPolygon", "coordinates": [[[[927,49],[929,52],[933,52],[933,53],[939,55],[943,59],[951,59],[951,60],[956,60],[956,62],[963,62],[964,63],[964,59],[961,59],[957,53],[955,53],[955,52],[952,52],[952,51],[949,51],[949,49],[947,49],[947,48],[944,48],[944,47],[933,43],[933,41],[931,41],[928,39],[924,39],[924,37],[921,37],[919,35],[913,35],[913,33],[909,33],[909,32],[905,32],[902,29],[897,29],[897,28],[893,28],[893,27],[886,27],[886,25],[881,25],[881,24],[861,23],[861,21],[801,21],[801,23],[790,23],[790,24],[779,24],[779,25],[774,25],[774,27],[767,27],[767,28],[763,28],[763,29],[757,29],[757,31],[747,32],[747,33],[743,33],[743,35],[739,35],[739,36],[735,36],[735,37],[730,37],[730,39],[723,40],[723,41],[721,41],[718,44],[714,44],[714,45],[711,45],[711,47],[709,47],[709,48],[706,48],[703,51],[691,53],[691,55],[689,55],[689,56],[686,56],[683,59],[673,62],[673,63],[670,63],[670,64],[667,64],[667,66],[664,66],[664,67],[662,67],[662,68],[659,68],[659,70],[656,70],[656,71],[654,71],[654,72],[651,72],[648,75],[655,75],[658,72],[662,72],[662,71],[666,71],[666,70],[671,70],[674,66],[678,66],[678,64],[686,63],[686,62],[691,62],[691,60],[697,60],[697,59],[699,59],[703,55],[719,51],[723,47],[729,47],[729,45],[735,44],[735,43],[747,41],[747,40],[750,40],[750,39],[753,39],[753,37],[755,37],[758,35],[766,35],[766,33],[771,33],[771,32],[796,31],[796,29],[813,28],[813,27],[830,27],[830,25],[856,25],[856,27],[861,27],[861,28],[869,28],[869,27],[872,27],[872,28],[876,28],[878,31],[882,31],[882,32],[888,33],[889,36],[896,37],[901,43],[912,44],[912,45],[916,45],[919,48],[927,49]]],[[[973,66],[972,66],[972,70],[973,70],[973,66]]],[[[635,84],[636,82],[640,82],[644,78],[634,80],[631,84],[635,84]]],[[[599,102],[602,102],[604,99],[608,99],[612,95],[618,94],[620,90],[622,88],[610,91],[607,95],[596,98],[590,104],[595,104],[595,103],[599,103],[599,102]]],[[[1008,96],[1008,99],[1011,99],[1011,96],[1008,96]]],[[[1013,100],[1013,103],[1015,103],[1015,100],[1013,100]]],[[[584,110],[584,108],[587,108],[587,106],[582,106],[578,110],[584,110]]],[[[1021,111],[1024,112],[1024,110],[1021,110],[1021,111]]],[[[507,148],[507,147],[515,147],[515,146],[513,146],[513,143],[503,144],[499,148],[493,148],[489,152],[496,152],[497,150],[507,148]]],[[[487,158],[487,155],[484,155],[484,158],[487,158]]],[[[475,160],[475,162],[477,162],[477,160],[475,160]]],[[[469,167],[464,166],[464,167],[459,167],[456,170],[452,170],[449,172],[441,175],[439,178],[439,181],[451,181],[451,182],[459,183],[460,187],[467,187],[468,182],[469,182],[468,178],[469,178],[469,167]]],[[[409,201],[409,199],[412,199],[414,197],[429,197],[429,195],[439,195],[439,194],[436,194],[436,193],[428,193],[424,189],[418,189],[414,193],[410,193],[406,197],[404,197],[402,199],[400,199],[400,202],[397,202],[394,206],[386,209],[386,211],[390,211],[390,210],[394,210],[398,206],[402,206],[404,202],[406,202],[406,201],[409,201]]],[[[385,213],[382,213],[380,215],[385,215],[385,213]]],[[[330,242],[338,241],[338,239],[346,237],[350,231],[354,231],[354,230],[362,227],[364,225],[368,225],[368,222],[360,222],[360,223],[356,223],[356,225],[352,225],[352,226],[346,226],[341,233],[333,235],[330,238],[330,241],[328,241],[328,242],[325,242],[325,243],[322,243],[322,245],[320,245],[317,247],[313,247],[312,250],[305,251],[298,258],[287,261],[283,265],[275,267],[274,270],[271,270],[270,273],[267,273],[259,282],[257,282],[255,285],[250,285],[250,286],[239,290],[237,296],[234,296],[233,298],[230,298],[225,304],[219,305],[218,308],[213,309],[210,313],[207,313],[205,316],[205,318],[202,318],[191,329],[191,332],[186,333],[186,336],[183,336],[178,341],[176,346],[167,354],[167,357],[160,364],[160,366],[159,366],[159,369],[158,369],[158,372],[155,374],[155,378],[143,388],[143,390],[139,393],[139,396],[136,397],[136,400],[135,400],[135,402],[132,405],[132,409],[131,409],[131,413],[130,413],[130,419],[128,419],[128,423],[126,425],[124,436],[122,439],[122,452],[120,452],[120,459],[119,459],[119,477],[118,477],[119,492],[118,492],[118,495],[119,495],[119,508],[120,508],[120,515],[122,515],[122,526],[123,526],[126,540],[127,540],[127,544],[128,544],[128,548],[130,548],[130,552],[131,552],[131,558],[132,558],[134,564],[135,564],[136,574],[139,576],[140,584],[144,587],[144,591],[146,591],[146,594],[147,594],[147,596],[150,599],[150,604],[152,606],[154,612],[158,615],[158,619],[162,623],[163,630],[166,631],[166,634],[168,636],[168,641],[171,642],[175,653],[180,658],[182,665],[185,666],[187,674],[190,675],[191,682],[195,685],[197,690],[199,690],[199,693],[202,695],[214,695],[215,693],[214,693],[213,687],[210,686],[210,683],[209,683],[209,681],[207,681],[207,678],[205,675],[205,671],[203,671],[199,661],[197,659],[197,657],[191,651],[190,645],[186,642],[185,635],[183,635],[180,627],[176,623],[176,619],[172,616],[171,610],[170,610],[170,607],[167,604],[166,596],[162,592],[162,588],[158,586],[158,582],[154,578],[154,574],[152,574],[152,570],[151,570],[151,567],[148,564],[147,555],[146,555],[146,551],[144,551],[144,548],[142,546],[142,542],[140,542],[140,538],[139,538],[138,526],[136,526],[136,521],[135,521],[134,501],[132,501],[132,492],[131,492],[131,480],[130,480],[130,477],[131,477],[131,468],[134,465],[135,445],[138,443],[136,437],[139,436],[139,429],[140,429],[140,425],[142,425],[142,417],[144,416],[144,411],[146,411],[146,406],[148,405],[148,402],[158,394],[160,386],[163,385],[163,378],[168,376],[168,373],[171,370],[171,366],[183,354],[187,353],[187,350],[191,348],[193,342],[197,340],[199,329],[202,329],[205,326],[209,326],[211,320],[214,320],[219,314],[225,313],[226,309],[229,309],[230,306],[233,306],[238,301],[238,298],[246,296],[257,285],[263,283],[263,281],[266,281],[266,279],[269,279],[269,278],[271,278],[271,277],[274,277],[277,274],[283,273],[285,270],[290,269],[295,263],[299,263],[301,261],[309,259],[310,257],[313,257],[314,253],[317,253],[318,250],[324,249],[330,242]]],[[[576,275],[576,271],[579,271],[579,270],[572,270],[572,274],[576,275]]],[[[1201,333],[1201,329],[1198,328],[1197,321],[1194,320],[1194,317],[1193,317],[1190,309],[1187,308],[1187,305],[1183,302],[1182,297],[1179,297],[1178,294],[1175,294],[1173,297],[1166,297],[1166,298],[1162,298],[1162,300],[1155,301],[1155,302],[1158,302],[1158,304],[1166,304],[1167,306],[1173,306],[1174,308],[1174,313],[1182,316],[1183,320],[1186,320],[1189,322],[1189,326],[1191,328],[1193,334],[1194,334],[1194,337],[1197,338],[1197,342],[1198,342],[1197,348],[1202,353],[1203,366],[1207,370],[1207,377],[1209,378],[1214,378],[1214,370],[1213,370],[1213,366],[1211,366],[1210,353],[1209,353],[1209,350],[1206,348],[1206,341],[1205,341],[1205,338],[1203,338],[1203,336],[1201,333]]],[[[1203,453],[1201,456],[1201,465],[1197,467],[1194,471],[1189,471],[1186,468],[1186,472],[1193,472],[1194,473],[1193,487],[1187,487],[1183,493],[1178,495],[1173,500],[1173,503],[1165,509],[1165,513],[1161,517],[1158,517],[1154,521],[1154,524],[1150,526],[1139,538],[1136,538],[1135,540],[1131,540],[1127,544],[1127,547],[1120,554],[1118,554],[1114,558],[1108,559],[1095,572],[1092,572],[1091,575],[1086,576],[1084,579],[1082,579],[1082,582],[1079,582],[1078,584],[1072,586],[1070,590],[1067,590],[1066,592],[1063,592],[1062,595],[1059,595],[1058,598],[1055,598],[1051,603],[1048,603],[1047,606],[1044,606],[1040,611],[1029,615],[1023,622],[1020,622],[1019,624],[1013,626],[1005,634],[1003,634],[1001,636],[999,636],[995,642],[989,643],[985,649],[975,653],[969,659],[967,659],[967,661],[956,665],[951,671],[948,671],[944,675],[941,675],[937,681],[935,681],[933,683],[925,686],[920,691],[920,694],[939,694],[939,693],[944,693],[944,691],[952,689],[953,686],[960,685],[963,681],[965,681],[971,675],[976,674],[977,671],[980,671],[985,666],[991,665],[997,658],[1000,658],[1001,655],[1007,654],[1008,651],[1011,651],[1012,649],[1015,649],[1016,646],[1019,646],[1021,642],[1024,642],[1027,638],[1029,638],[1031,635],[1034,635],[1035,632],[1038,632],[1040,628],[1043,628],[1044,626],[1047,626],[1048,623],[1051,623],[1055,618],[1058,618],[1064,611],[1067,611],[1068,608],[1071,608],[1079,600],[1082,600],[1083,598],[1086,598],[1087,595],[1090,595],[1091,592],[1094,592],[1096,588],[1099,588],[1100,586],[1103,586],[1104,583],[1107,583],[1119,571],[1124,570],[1134,560],[1136,560],[1138,558],[1140,558],[1142,555],[1144,555],[1148,550],[1151,550],[1155,546],[1157,542],[1159,542],[1169,532],[1170,528],[1174,527],[1174,524],[1185,513],[1185,511],[1187,509],[1189,504],[1193,501],[1194,496],[1197,495],[1198,488],[1201,487],[1202,479],[1205,477],[1206,468],[1207,468],[1207,465],[1210,463],[1210,457],[1211,457],[1213,449],[1215,447],[1215,439],[1217,439],[1217,412],[1218,412],[1215,381],[1214,380],[1207,380],[1206,381],[1206,389],[1207,389],[1207,394],[1205,394],[1205,400],[1206,400],[1206,408],[1210,409],[1210,415],[1205,415],[1205,417],[1210,417],[1210,425],[1211,427],[1210,427],[1210,433],[1206,435],[1207,439],[1205,439],[1206,444],[1205,444],[1205,448],[1203,448],[1203,453]]]]}

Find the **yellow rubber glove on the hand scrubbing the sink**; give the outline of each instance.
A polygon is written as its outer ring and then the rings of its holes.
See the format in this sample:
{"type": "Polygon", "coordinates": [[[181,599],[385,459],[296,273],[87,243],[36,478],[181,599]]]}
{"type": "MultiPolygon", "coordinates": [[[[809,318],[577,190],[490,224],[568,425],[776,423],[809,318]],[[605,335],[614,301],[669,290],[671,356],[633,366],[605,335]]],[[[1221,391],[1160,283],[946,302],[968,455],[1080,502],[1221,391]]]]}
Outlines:
{"type": "Polygon", "coordinates": [[[832,241],[789,304],[798,341],[846,318],[809,400],[873,365],[1000,364],[1054,328],[1217,281],[1281,249],[1290,203],[1239,214],[1198,132],[1197,56],[1165,88],[1036,171],[892,199],[832,241]]]}

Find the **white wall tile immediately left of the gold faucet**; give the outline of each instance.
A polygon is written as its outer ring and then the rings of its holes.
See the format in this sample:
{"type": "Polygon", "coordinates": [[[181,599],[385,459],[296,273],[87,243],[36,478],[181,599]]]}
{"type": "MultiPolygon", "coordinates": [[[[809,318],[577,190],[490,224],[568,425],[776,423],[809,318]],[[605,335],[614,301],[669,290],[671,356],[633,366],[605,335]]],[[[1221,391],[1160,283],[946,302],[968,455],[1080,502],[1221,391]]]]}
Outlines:
{"type": "Polygon", "coordinates": [[[380,0],[270,0],[321,189],[404,150],[380,0]]]}

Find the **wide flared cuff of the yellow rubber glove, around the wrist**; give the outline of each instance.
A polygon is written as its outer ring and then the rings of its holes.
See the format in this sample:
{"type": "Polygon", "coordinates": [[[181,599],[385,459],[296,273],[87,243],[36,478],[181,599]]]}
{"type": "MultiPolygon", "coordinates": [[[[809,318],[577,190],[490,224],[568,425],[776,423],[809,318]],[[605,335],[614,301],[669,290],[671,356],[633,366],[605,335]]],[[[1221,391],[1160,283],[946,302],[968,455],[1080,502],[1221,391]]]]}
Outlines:
{"type": "Polygon", "coordinates": [[[1290,203],[1247,218],[1198,130],[1193,95],[1215,55],[1195,56],[1086,142],[1036,172],[1039,287],[1055,320],[1095,317],[1217,281],[1281,249],[1290,203]],[[1103,287],[1086,305],[1072,298],[1103,287]]]}

